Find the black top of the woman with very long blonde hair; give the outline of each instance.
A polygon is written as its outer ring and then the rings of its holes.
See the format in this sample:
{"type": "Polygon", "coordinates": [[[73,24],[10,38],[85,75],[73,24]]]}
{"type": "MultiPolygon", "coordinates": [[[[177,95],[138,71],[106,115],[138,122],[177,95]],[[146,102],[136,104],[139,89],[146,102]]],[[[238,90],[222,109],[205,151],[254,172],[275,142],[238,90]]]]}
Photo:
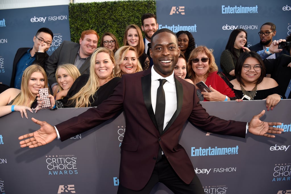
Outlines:
{"type": "MultiPolygon", "coordinates": [[[[67,96],[65,96],[63,99],[56,100],[57,108],[75,107],[75,103],[72,103],[72,100],[68,99],[77,94],[77,92],[87,83],[88,79],[88,74],[79,76],[68,91],[67,96]]],[[[114,88],[120,80],[120,77],[113,77],[109,82],[100,86],[99,89],[95,92],[94,97],[92,98],[90,96],[89,98],[89,102],[91,103],[90,107],[98,106],[100,103],[106,100],[113,93],[114,88]]]]}

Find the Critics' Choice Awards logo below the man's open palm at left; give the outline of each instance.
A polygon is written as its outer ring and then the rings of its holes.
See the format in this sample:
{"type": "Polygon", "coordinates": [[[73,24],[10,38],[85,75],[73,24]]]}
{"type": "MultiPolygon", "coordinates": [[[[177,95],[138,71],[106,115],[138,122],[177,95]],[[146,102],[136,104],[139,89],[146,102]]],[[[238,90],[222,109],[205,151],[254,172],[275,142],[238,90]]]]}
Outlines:
{"type": "Polygon", "coordinates": [[[45,165],[48,175],[68,176],[78,174],[77,157],[74,155],[45,156],[45,165]]]}

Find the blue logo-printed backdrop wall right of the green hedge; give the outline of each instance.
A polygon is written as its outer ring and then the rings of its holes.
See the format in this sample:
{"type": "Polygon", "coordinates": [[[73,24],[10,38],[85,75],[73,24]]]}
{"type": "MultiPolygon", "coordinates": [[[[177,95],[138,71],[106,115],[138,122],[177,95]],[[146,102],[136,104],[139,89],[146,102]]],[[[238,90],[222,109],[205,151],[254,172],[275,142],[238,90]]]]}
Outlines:
{"type": "Polygon", "coordinates": [[[247,47],[260,42],[258,32],[262,24],[276,25],[273,40],[291,34],[290,0],[160,0],[157,1],[159,28],[168,28],[192,33],[196,45],[205,45],[214,50],[218,66],[220,55],[225,50],[230,33],[244,29],[248,33],[247,47]]]}

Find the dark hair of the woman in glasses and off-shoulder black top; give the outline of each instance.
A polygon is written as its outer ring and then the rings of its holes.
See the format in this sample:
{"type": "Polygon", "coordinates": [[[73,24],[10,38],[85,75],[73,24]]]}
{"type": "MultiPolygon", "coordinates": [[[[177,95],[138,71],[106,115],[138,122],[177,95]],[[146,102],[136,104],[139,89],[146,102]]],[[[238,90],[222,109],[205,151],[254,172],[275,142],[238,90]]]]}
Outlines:
{"type": "Polygon", "coordinates": [[[253,57],[255,59],[258,59],[260,65],[262,66],[261,75],[260,75],[259,79],[257,80],[257,84],[261,83],[266,75],[265,65],[264,65],[264,62],[262,61],[262,58],[260,57],[260,55],[254,51],[243,52],[242,54],[240,54],[239,58],[237,59],[237,63],[235,65],[235,78],[237,79],[239,84],[242,84],[243,86],[245,86],[245,85],[242,82],[242,76],[241,76],[242,66],[244,65],[244,61],[246,61],[246,59],[249,57],[253,57]]]}

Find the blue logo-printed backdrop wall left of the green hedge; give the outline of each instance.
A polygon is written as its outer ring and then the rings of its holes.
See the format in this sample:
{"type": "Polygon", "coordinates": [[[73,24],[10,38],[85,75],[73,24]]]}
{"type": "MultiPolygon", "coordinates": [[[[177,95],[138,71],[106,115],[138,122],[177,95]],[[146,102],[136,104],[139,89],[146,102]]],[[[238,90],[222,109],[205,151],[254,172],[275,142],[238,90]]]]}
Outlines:
{"type": "Polygon", "coordinates": [[[68,5],[0,10],[0,82],[10,85],[13,60],[21,47],[32,47],[40,28],[54,34],[51,55],[64,40],[71,40],[68,5]]]}

